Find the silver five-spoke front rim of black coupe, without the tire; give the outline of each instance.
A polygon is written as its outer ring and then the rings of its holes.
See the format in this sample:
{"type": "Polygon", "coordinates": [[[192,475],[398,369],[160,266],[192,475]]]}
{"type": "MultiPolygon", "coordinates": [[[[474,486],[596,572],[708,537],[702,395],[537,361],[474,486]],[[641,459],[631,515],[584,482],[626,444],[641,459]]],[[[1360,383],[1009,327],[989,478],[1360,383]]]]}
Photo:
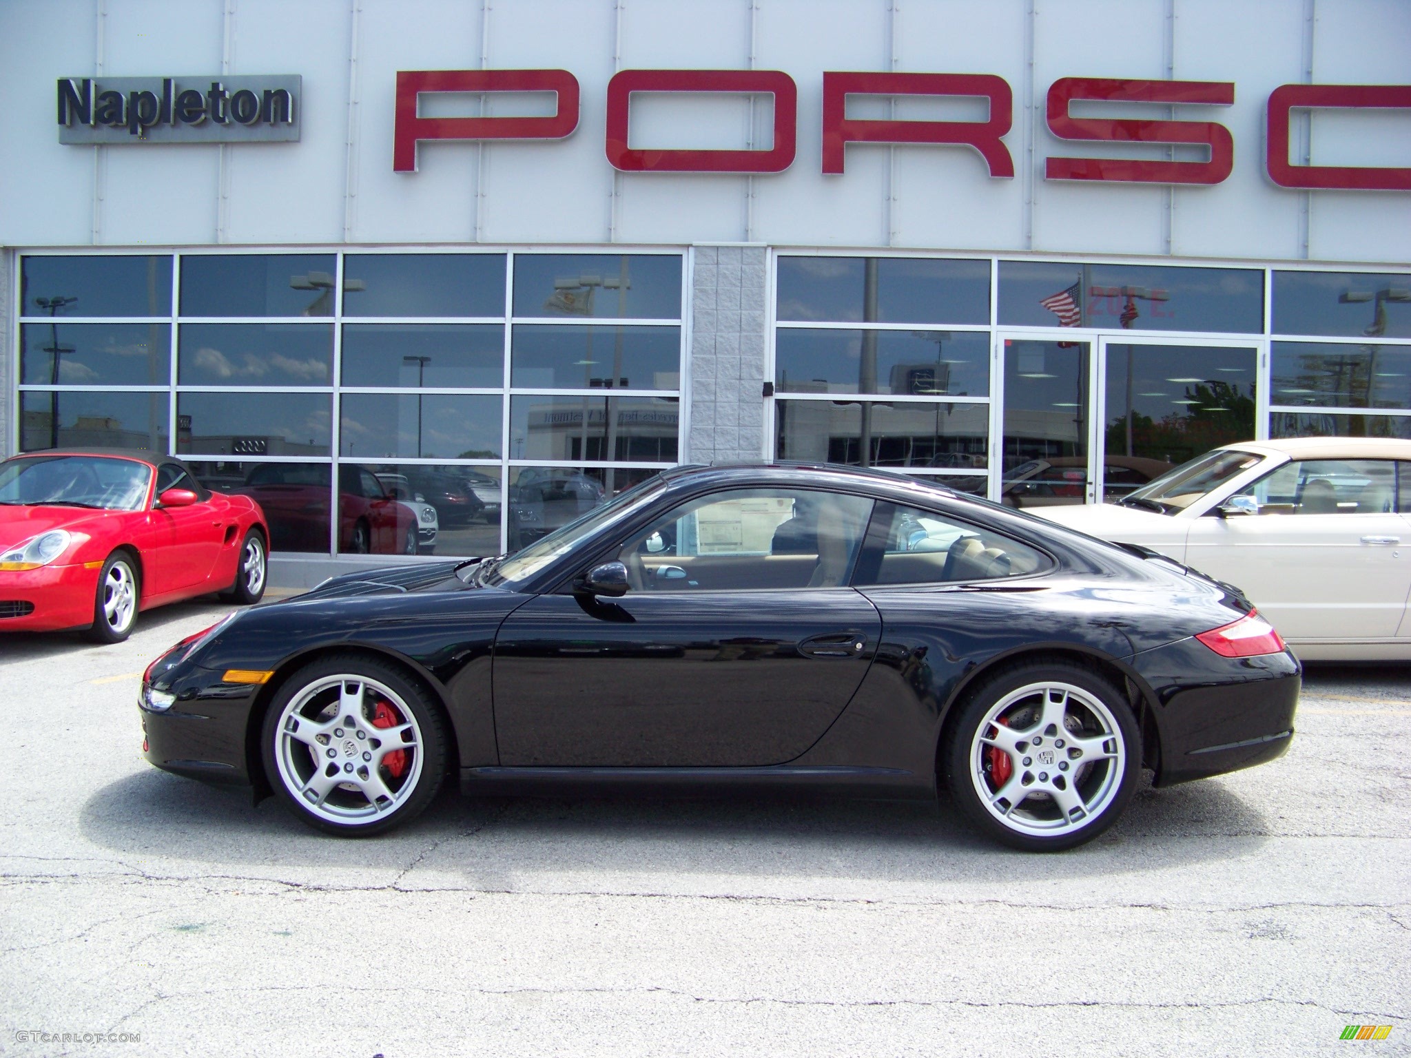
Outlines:
{"type": "Polygon", "coordinates": [[[422,774],[415,714],[396,691],[365,676],[323,676],[303,687],[284,707],[275,736],[285,789],[305,811],[329,822],[356,827],[385,820],[412,796],[422,774]],[[401,722],[375,726],[374,695],[401,722]],[[384,766],[395,750],[411,756],[401,776],[384,766]]]}

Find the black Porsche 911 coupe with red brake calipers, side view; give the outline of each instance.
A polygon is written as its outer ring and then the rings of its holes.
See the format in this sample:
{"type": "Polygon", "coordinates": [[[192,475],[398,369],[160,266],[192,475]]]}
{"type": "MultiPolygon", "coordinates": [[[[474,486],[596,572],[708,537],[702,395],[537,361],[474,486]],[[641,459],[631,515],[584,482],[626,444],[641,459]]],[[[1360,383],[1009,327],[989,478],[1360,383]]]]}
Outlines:
{"type": "Polygon", "coordinates": [[[914,480],[680,467],[498,559],[354,573],[147,670],[147,759],[385,831],[447,774],[945,789],[1024,849],[1281,755],[1300,666],[1236,588],[914,480]]]}

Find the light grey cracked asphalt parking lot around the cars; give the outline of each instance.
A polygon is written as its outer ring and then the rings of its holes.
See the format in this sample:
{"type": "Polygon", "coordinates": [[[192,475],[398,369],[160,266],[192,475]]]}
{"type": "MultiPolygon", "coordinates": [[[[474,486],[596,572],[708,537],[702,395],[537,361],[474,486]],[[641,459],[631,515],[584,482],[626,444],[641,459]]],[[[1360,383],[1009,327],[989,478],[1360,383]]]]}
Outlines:
{"type": "Polygon", "coordinates": [[[1411,667],[1311,670],[1287,756],[1061,855],[944,804],[453,791],[339,841],[138,752],[138,674],[226,611],[0,642],[0,1052],[1411,1052],[1411,667]]]}

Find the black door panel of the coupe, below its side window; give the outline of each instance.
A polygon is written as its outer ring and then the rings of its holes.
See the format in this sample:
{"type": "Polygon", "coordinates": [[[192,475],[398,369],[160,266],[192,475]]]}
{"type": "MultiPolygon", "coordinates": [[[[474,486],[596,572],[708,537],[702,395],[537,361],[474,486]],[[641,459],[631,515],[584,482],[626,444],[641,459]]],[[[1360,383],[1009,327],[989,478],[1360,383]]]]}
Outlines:
{"type": "Polygon", "coordinates": [[[499,760],[792,760],[847,707],[880,631],[876,609],[851,588],[629,592],[617,602],[540,595],[495,642],[499,760]],[[844,652],[820,639],[844,633],[844,652]]]}

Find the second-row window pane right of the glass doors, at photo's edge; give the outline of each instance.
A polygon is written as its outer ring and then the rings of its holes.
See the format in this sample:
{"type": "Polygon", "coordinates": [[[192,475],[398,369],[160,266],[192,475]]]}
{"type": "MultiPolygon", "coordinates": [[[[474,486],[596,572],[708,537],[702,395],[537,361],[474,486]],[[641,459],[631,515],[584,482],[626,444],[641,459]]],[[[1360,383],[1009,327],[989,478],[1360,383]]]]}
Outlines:
{"type": "Polygon", "coordinates": [[[1411,346],[1276,341],[1270,403],[1411,408],[1411,346]]]}

